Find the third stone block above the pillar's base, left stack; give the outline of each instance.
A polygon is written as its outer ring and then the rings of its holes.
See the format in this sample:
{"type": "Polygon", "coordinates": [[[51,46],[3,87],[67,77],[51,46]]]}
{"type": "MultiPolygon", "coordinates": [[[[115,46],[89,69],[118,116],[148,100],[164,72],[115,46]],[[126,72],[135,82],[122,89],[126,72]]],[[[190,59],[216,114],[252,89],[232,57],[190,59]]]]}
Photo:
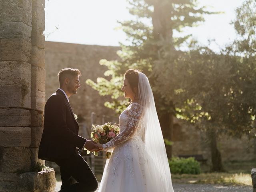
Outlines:
{"type": "Polygon", "coordinates": [[[30,125],[30,111],[25,109],[6,108],[0,109],[0,127],[30,125]]]}

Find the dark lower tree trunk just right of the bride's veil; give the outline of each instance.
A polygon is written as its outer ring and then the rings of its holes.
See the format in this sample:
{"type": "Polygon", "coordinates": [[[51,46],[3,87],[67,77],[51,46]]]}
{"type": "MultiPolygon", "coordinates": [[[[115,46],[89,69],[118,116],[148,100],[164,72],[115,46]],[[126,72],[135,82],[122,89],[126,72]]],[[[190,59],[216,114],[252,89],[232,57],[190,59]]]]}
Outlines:
{"type": "MultiPolygon", "coordinates": [[[[173,115],[170,113],[162,114],[159,118],[159,122],[164,138],[172,141],[173,115]]],[[[165,144],[165,147],[168,159],[172,158],[172,146],[165,144]]]]}

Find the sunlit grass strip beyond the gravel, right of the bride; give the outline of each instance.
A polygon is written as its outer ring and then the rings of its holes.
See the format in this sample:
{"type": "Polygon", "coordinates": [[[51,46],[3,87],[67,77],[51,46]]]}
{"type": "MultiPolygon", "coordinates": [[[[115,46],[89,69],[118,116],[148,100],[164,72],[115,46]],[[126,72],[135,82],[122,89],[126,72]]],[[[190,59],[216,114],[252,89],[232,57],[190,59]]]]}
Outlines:
{"type": "Polygon", "coordinates": [[[222,185],[249,185],[252,186],[251,169],[256,168],[256,162],[228,162],[224,163],[227,172],[210,173],[209,167],[202,166],[198,175],[172,174],[173,183],[194,184],[222,184],[222,185]]]}

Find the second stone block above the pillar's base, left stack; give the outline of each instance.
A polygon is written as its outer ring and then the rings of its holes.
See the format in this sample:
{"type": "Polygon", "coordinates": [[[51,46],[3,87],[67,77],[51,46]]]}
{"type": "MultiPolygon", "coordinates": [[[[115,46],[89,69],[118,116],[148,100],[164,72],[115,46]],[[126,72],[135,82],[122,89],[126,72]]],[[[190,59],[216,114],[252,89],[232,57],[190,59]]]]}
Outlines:
{"type": "Polygon", "coordinates": [[[0,146],[29,147],[30,127],[0,127],[0,146]]]}

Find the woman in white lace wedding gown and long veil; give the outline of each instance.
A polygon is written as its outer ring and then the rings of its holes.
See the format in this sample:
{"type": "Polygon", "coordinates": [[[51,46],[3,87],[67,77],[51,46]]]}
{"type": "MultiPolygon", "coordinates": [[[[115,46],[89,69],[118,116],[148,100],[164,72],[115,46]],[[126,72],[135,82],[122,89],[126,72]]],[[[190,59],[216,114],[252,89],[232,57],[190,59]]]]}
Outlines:
{"type": "Polygon", "coordinates": [[[174,192],[153,93],[148,78],[128,70],[122,87],[130,105],[120,117],[120,134],[103,150],[113,150],[106,162],[99,192],[174,192]]]}

